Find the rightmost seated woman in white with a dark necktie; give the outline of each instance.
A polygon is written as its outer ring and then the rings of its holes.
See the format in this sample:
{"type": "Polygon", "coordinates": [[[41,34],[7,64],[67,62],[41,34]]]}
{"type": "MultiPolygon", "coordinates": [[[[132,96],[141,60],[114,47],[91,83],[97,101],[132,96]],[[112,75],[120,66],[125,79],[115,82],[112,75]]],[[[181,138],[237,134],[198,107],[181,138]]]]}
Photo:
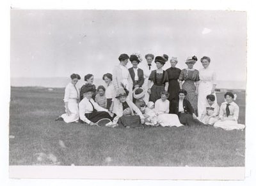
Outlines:
{"type": "Polygon", "coordinates": [[[234,94],[232,92],[226,92],[224,97],[226,101],[220,106],[220,119],[214,124],[214,127],[220,127],[227,131],[244,129],[245,125],[237,123],[239,106],[234,103],[234,94]]]}

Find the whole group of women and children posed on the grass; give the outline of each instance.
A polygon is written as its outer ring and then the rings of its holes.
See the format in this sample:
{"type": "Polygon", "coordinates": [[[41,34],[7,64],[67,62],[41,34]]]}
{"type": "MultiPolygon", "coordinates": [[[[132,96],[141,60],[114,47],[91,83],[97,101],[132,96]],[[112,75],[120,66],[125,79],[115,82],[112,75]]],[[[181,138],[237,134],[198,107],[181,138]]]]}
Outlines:
{"type": "Polygon", "coordinates": [[[72,74],[65,89],[66,113],[56,120],[80,120],[90,125],[104,121],[109,127],[209,124],[226,130],[244,128],[237,124],[239,107],[232,92],[227,92],[226,101],[218,106],[216,73],[210,67],[210,57],[200,59],[203,68],[199,71],[193,68],[198,60],[195,55],[188,57],[188,68],[182,70],[176,68],[176,57],[170,59],[171,67],[163,70],[168,61],[166,54],[147,54],[145,59],[147,62],[141,63],[139,54],[121,54],[113,73],[102,77],[106,86],[97,89],[92,74],[84,76],[81,89],[76,87],[81,77],[72,74]],[[128,69],[129,61],[132,68],[128,69]]]}

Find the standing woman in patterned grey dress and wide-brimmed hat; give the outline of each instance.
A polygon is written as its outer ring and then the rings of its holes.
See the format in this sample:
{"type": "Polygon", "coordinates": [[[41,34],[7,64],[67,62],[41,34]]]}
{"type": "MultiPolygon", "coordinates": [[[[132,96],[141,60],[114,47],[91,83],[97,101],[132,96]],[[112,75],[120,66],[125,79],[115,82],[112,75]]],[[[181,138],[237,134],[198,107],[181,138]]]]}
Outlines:
{"type": "Polygon", "coordinates": [[[191,103],[197,115],[197,90],[199,83],[199,71],[194,69],[193,66],[197,61],[197,57],[188,57],[186,64],[188,68],[182,69],[179,76],[180,89],[188,92],[186,99],[191,103]]]}

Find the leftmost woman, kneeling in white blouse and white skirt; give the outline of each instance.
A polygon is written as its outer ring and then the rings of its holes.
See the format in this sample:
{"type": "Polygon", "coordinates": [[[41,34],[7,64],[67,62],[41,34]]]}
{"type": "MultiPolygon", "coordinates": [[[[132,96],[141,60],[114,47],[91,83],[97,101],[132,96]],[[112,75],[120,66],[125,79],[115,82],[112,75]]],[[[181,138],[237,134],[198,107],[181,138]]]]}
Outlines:
{"type": "Polygon", "coordinates": [[[63,99],[66,113],[56,118],[56,120],[64,120],[66,123],[77,122],[79,120],[79,91],[76,87],[76,83],[81,77],[77,74],[72,74],[70,78],[71,82],[68,83],[65,88],[65,96],[63,99]]]}

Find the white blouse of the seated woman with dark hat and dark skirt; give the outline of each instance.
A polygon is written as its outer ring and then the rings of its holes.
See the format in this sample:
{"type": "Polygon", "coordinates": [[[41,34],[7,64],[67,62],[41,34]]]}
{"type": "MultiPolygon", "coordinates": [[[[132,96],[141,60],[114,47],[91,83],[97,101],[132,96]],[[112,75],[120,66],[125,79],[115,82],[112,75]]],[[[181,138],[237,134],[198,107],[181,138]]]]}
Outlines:
{"type": "Polygon", "coordinates": [[[92,113],[93,107],[90,102],[93,104],[95,110],[108,111],[107,109],[100,107],[99,104],[97,104],[92,98],[89,101],[86,97],[84,97],[84,99],[82,99],[82,101],[80,101],[80,103],[79,103],[79,117],[81,120],[83,120],[87,124],[90,124],[91,121],[88,120],[88,118],[86,118],[84,114],[92,113]]]}

